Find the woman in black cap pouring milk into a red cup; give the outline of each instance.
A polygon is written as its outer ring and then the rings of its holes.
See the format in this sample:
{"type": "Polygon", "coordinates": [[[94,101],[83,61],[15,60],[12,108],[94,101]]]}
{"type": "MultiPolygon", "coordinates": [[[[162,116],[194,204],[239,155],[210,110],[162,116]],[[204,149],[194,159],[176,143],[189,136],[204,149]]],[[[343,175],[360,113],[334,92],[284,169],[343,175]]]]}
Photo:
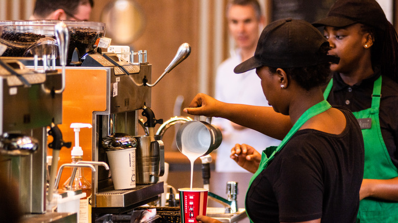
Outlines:
{"type": "MultiPolygon", "coordinates": [[[[292,125],[278,147],[263,151],[257,165],[245,165],[245,157],[238,157],[238,164],[255,172],[245,201],[253,222],[356,220],[363,138],[351,111],[331,107],[322,94],[330,77],[329,62],[338,63],[328,50],[328,41],[310,23],[278,20],[263,30],[254,57],[234,70],[256,69],[273,110],[292,125]]],[[[185,111],[206,109],[202,96],[185,111]]],[[[206,216],[196,219],[216,222],[206,216]]]]}

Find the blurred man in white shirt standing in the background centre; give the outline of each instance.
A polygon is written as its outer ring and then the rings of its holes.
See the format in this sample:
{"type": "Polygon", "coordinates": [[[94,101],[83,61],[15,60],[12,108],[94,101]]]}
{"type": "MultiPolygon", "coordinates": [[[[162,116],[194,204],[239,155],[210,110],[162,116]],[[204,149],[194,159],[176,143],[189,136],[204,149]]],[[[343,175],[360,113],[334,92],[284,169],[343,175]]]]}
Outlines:
{"type": "MultiPolygon", "coordinates": [[[[232,0],[227,5],[226,15],[236,49],[217,69],[215,98],[228,103],[269,106],[255,70],[243,74],[235,74],[233,71],[235,66],[254,55],[260,30],[264,25],[261,7],[257,0],[232,0]]],[[[216,150],[216,172],[247,172],[230,158],[231,149],[235,144],[248,144],[265,149],[280,143],[279,140],[227,119],[214,118],[212,124],[220,127],[222,131],[222,143],[216,150]]]]}

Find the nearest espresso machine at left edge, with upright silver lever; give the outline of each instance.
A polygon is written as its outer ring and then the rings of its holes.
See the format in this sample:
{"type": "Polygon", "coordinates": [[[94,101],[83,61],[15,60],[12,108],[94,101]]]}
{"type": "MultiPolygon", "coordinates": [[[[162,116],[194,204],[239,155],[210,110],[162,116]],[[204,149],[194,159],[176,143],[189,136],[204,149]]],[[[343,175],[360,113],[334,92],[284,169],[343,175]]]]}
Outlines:
{"type": "MultiPolygon", "coordinates": [[[[67,29],[59,23],[52,30],[57,45],[61,46],[62,61],[66,59],[63,52],[67,47],[67,29]]],[[[55,63],[31,69],[23,61],[43,64],[37,57],[0,58],[0,171],[7,178],[3,184],[16,183],[18,201],[14,202],[19,203],[24,214],[44,214],[48,198],[47,128],[59,133],[51,133],[54,150],[66,145],[57,127],[62,122],[65,73],[53,69],[55,63]]]]}

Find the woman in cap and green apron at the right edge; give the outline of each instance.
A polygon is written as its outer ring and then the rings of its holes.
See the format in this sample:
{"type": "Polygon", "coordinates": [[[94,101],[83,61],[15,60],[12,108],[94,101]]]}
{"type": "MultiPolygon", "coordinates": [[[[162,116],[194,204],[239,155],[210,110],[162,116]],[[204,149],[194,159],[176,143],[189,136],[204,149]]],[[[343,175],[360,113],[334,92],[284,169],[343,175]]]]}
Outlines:
{"type": "Polygon", "coordinates": [[[353,111],[365,144],[359,222],[398,222],[398,41],[375,0],[338,0],[325,26],[332,55],[325,98],[353,111]]]}

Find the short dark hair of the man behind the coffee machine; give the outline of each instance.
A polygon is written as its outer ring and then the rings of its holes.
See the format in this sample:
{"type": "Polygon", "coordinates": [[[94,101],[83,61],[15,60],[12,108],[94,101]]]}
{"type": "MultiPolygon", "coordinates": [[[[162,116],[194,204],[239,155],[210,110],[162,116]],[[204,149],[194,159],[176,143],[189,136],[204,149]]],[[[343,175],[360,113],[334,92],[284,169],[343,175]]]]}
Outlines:
{"type": "Polygon", "coordinates": [[[33,15],[45,18],[57,9],[63,9],[66,14],[74,15],[80,5],[90,4],[94,6],[93,0],[36,0],[33,15]]]}

